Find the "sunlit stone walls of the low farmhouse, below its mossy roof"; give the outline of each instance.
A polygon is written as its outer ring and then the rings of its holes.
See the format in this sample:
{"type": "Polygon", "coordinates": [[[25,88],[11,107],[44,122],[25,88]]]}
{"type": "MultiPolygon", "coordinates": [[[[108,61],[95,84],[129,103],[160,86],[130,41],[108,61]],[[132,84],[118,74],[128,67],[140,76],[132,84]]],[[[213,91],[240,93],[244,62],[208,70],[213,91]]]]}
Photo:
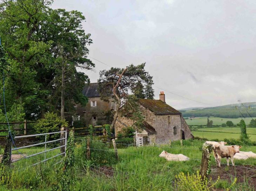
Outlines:
{"type": "MultiPolygon", "coordinates": [[[[180,114],[171,114],[171,115],[155,115],[150,110],[140,106],[140,111],[143,112],[145,116],[145,121],[155,128],[156,134],[150,135],[149,141],[151,144],[151,138],[155,138],[156,144],[168,144],[169,140],[175,141],[182,139],[182,129],[181,129],[181,116],[180,114]],[[170,117],[170,124],[168,123],[168,116],[170,117]],[[176,128],[176,130],[175,130],[176,128]],[[176,132],[176,134],[175,134],[176,132]]],[[[183,118],[182,118],[183,119],[183,118]]],[[[124,123],[127,126],[131,126],[133,121],[126,117],[118,117],[118,120],[124,123]]],[[[184,119],[183,119],[184,120],[184,119]]],[[[124,125],[120,122],[115,124],[115,134],[122,130],[124,125]]],[[[192,138],[192,134],[188,125],[183,122],[183,131],[185,133],[185,139],[192,138]]]]}

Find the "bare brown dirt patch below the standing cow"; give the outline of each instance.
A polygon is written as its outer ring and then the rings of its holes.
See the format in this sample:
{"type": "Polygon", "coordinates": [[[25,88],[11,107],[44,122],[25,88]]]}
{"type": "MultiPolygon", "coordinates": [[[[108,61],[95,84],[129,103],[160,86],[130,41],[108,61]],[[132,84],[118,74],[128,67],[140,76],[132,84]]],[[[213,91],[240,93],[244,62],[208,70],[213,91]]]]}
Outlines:
{"type": "Polygon", "coordinates": [[[218,176],[220,176],[220,179],[225,179],[229,183],[231,183],[231,177],[234,179],[234,177],[237,178],[237,183],[244,183],[246,179],[248,179],[248,183],[253,183],[256,185],[256,167],[251,167],[249,165],[244,166],[221,166],[221,168],[218,168],[217,166],[211,167],[211,174],[209,175],[209,178],[212,178],[213,181],[216,181],[218,179],[218,176]]]}

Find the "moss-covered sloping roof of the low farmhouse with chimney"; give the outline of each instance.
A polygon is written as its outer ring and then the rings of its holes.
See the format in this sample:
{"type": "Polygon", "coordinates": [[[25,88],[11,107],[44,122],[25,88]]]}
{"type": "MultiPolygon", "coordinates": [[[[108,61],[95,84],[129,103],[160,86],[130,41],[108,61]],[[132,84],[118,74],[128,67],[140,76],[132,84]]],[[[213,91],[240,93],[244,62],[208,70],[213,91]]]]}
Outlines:
{"type": "Polygon", "coordinates": [[[155,115],[181,114],[181,112],[161,100],[140,99],[139,103],[152,111],[155,115]]]}

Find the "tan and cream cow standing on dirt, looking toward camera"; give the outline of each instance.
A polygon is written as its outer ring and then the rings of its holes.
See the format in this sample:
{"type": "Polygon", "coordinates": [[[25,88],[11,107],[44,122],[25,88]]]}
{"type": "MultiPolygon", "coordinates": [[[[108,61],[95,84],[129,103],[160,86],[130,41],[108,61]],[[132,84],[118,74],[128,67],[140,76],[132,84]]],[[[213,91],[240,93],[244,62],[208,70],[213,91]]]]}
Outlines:
{"type": "Polygon", "coordinates": [[[236,153],[239,153],[239,149],[242,148],[242,146],[238,145],[232,145],[232,146],[215,146],[214,152],[217,155],[217,164],[218,167],[221,167],[221,158],[226,157],[227,163],[229,166],[229,158],[231,159],[232,165],[234,166],[234,155],[236,153]]]}

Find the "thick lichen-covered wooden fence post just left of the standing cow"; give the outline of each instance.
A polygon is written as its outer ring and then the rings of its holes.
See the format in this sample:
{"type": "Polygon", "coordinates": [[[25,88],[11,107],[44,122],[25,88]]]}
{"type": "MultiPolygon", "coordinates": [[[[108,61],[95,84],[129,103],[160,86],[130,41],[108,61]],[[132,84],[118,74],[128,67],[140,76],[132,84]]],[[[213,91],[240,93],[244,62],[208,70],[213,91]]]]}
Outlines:
{"type": "Polygon", "coordinates": [[[203,181],[209,175],[210,160],[211,160],[210,157],[211,157],[212,151],[213,151],[213,145],[209,145],[206,143],[203,144],[202,161],[201,161],[201,169],[200,169],[200,175],[202,176],[203,181]]]}

